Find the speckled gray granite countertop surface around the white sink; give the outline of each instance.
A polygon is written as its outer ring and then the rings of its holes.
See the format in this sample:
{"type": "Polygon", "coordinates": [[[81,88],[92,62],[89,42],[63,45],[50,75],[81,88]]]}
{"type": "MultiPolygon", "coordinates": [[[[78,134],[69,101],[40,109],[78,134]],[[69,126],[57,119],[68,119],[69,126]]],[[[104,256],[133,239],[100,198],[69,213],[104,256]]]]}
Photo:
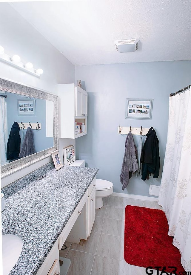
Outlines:
{"type": "Polygon", "coordinates": [[[2,233],[22,238],[21,255],[11,275],[34,275],[76,209],[98,169],[52,169],[5,200],[2,233]]]}

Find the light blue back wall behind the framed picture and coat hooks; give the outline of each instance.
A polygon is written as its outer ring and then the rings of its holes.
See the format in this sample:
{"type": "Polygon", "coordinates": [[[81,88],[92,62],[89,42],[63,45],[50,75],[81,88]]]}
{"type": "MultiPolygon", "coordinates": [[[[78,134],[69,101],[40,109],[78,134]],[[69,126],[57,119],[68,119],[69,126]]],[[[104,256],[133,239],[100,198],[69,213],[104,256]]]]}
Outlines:
{"type": "MultiPolygon", "coordinates": [[[[148,195],[150,184],[160,185],[167,139],[169,94],[191,84],[191,61],[124,63],[76,67],[76,81],[88,92],[87,135],[76,139],[76,158],[99,168],[97,178],[112,181],[114,192],[122,193],[119,181],[126,135],[117,127],[153,128],[159,139],[160,177],[130,179],[124,193],[148,195]],[[153,98],[152,120],[125,119],[126,98],[153,98]]],[[[134,135],[135,143],[139,136],[134,135]]],[[[146,137],[144,137],[146,138],[146,137]]]]}

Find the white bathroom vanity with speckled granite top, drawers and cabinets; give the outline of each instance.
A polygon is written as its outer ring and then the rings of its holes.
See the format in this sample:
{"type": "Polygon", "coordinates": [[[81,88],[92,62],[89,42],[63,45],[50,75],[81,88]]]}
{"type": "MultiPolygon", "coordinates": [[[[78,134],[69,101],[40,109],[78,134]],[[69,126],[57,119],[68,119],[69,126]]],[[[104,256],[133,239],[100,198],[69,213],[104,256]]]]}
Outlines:
{"type": "Polygon", "coordinates": [[[5,200],[2,233],[23,240],[10,275],[59,273],[59,250],[67,237],[78,242],[90,236],[97,172],[75,166],[52,169],[5,200]]]}

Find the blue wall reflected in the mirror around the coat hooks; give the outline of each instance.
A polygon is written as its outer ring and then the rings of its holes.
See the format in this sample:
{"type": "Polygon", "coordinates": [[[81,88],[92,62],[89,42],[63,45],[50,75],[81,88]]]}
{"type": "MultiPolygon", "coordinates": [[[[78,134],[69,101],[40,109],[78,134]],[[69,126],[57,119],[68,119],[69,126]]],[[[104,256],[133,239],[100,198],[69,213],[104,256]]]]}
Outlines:
{"type": "MultiPolygon", "coordinates": [[[[9,92],[6,94],[8,137],[14,121],[18,123],[21,123],[21,121],[36,123],[38,121],[38,123],[41,123],[41,130],[33,130],[36,152],[53,147],[53,137],[46,137],[46,100],[36,98],[36,116],[18,116],[17,99],[27,100],[27,98],[9,92]]],[[[24,135],[26,132],[27,129],[24,129],[24,135]]]]}

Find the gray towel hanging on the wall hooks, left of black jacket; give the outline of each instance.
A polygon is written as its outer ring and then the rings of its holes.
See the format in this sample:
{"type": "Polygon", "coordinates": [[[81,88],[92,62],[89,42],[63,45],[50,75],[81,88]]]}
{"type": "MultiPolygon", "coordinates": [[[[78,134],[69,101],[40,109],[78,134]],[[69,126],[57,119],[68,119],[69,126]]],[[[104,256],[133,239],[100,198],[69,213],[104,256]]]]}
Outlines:
{"type": "Polygon", "coordinates": [[[127,185],[129,184],[129,179],[138,169],[136,154],[137,149],[133,140],[133,135],[131,132],[129,132],[125,140],[125,154],[120,175],[120,182],[121,184],[123,184],[122,190],[127,187],[127,185]]]}

